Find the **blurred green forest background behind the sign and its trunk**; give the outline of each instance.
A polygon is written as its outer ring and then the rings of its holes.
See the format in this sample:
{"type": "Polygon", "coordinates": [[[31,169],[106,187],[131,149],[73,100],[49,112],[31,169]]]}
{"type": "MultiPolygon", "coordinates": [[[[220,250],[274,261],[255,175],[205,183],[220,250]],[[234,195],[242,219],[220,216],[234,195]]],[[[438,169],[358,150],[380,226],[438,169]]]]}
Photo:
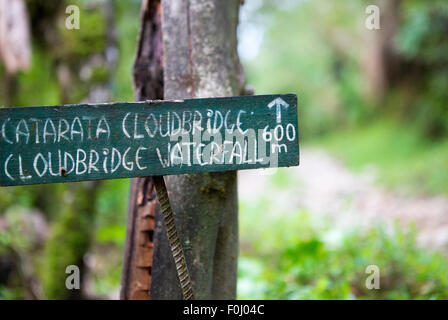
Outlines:
{"type": "MultiPolygon", "coordinates": [[[[140,1],[19,2],[30,45],[14,38],[22,59],[5,63],[0,21],[0,106],[134,100],[140,1]]],[[[447,299],[447,1],[246,0],[240,18],[255,93],[299,96],[302,164],[240,172],[238,297],[447,299]]],[[[118,298],[128,189],[2,188],[0,299],[118,298]],[[71,264],[82,290],[65,289],[71,264]]]]}

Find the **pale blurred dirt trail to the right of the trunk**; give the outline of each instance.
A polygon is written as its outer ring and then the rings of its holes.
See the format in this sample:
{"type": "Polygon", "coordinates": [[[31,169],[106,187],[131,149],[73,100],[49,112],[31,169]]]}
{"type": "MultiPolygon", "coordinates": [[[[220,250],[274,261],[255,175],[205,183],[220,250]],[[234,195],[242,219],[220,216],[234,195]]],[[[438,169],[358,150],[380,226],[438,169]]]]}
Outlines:
{"type": "Polygon", "coordinates": [[[406,197],[379,187],[372,172],[353,173],[320,149],[301,150],[300,167],[289,168],[294,187],[279,191],[259,170],[239,172],[239,194],[250,201],[269,195],[278,206],[305,208],[328,219],[335,231],[414,222],[417,241],[426,247],[448,248],[448,199],[406,197]]]}

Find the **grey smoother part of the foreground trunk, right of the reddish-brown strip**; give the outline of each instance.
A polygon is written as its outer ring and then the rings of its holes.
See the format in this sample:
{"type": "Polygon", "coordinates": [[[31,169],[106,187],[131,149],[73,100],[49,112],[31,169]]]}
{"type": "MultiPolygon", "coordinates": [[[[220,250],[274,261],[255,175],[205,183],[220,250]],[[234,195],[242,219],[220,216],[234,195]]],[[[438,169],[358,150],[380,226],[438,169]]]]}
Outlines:
{"type": "MultiPolygon", "coordinates": [[[[162,0],[164,98],[238,95],[239,0],[162,0]]],[[[196,299],[236,296],[236,172],[165,178],[196,299]]],[[[163,220],[156,212],[152,299],[181,299],[163,220]]]]}

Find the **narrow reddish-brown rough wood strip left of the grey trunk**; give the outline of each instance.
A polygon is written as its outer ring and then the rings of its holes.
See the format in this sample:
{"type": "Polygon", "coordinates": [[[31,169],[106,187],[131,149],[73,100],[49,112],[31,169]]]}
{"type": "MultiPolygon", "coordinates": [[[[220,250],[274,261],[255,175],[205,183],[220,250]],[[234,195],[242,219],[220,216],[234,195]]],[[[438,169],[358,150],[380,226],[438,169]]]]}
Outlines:
{"type": "MultiPolygon", "coordinates": [[[[142,4],[141,29],[134,62],[137,101],[163,99],[160,0],[142,4]]],[[[155,212],[160,211],[151,177],[132,179],[129,196],[121,299],[149,299],[155,212]]]]}

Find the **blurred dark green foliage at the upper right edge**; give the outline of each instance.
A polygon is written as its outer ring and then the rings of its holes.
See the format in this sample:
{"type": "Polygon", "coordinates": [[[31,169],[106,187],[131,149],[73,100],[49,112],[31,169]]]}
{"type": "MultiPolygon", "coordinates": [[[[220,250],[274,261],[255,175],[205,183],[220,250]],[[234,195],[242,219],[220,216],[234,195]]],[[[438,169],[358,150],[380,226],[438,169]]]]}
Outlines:
{"type": "Polygon", "coordinates": [[[447,31],[445,1],[406,2],[404,23],[396,42],[404,58],[422,71],[419,78],[413,79],[418,96],[405,107],[421,128],[436,138],[448,133],[447,31]]]}

